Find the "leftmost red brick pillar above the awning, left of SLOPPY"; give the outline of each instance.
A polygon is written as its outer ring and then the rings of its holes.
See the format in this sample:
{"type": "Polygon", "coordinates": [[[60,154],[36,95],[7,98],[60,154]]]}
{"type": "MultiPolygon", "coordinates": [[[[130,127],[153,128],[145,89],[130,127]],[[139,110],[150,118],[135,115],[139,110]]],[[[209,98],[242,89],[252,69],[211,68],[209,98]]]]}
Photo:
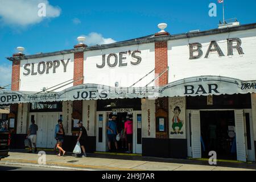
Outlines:
{"type": "Polygon", "coordinates": [[[11,72],[11,90],[19,90],[19,72],[20,72],[20,60],[13,61],[13,68],[11,72]]]}

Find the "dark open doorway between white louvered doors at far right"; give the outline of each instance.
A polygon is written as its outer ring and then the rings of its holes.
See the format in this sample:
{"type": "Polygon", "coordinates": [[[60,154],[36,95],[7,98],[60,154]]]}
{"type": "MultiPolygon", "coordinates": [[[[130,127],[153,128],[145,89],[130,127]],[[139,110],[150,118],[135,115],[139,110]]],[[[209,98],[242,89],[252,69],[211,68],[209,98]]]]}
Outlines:
{"type": "Polygon", "coordinates": [[[236,160],[234,111],[200,111],[203,158],[216,151],[217,159],[236,160]]]}

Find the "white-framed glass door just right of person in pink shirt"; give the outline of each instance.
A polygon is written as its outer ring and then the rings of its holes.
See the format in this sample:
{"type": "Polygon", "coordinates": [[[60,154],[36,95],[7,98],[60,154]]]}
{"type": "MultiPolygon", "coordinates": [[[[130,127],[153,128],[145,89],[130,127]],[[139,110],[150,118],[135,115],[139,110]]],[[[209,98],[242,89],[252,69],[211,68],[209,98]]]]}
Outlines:
{"type": "Polygon", "coordinates": [[[133,111],[133,153],[142,154],[142,111],[133,111]]]}

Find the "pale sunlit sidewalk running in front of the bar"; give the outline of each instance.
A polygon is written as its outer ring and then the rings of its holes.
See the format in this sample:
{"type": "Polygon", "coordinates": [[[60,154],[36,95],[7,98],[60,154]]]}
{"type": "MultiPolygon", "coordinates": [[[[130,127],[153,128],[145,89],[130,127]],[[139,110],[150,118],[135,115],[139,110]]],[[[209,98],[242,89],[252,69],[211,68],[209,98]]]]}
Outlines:
{"type": "MultiPolygon", "coordinates": [[[[8,158],[2,159],[0,164],[37,165],[38,154],[28,154],[26,150],[12,150],[8,158]]],[[[87,158],[78,158],[67,154],[57,157],[54,152],[46,152],[46,165],[52,167],[67,167],[88,170],[150,170],[150,171],[245,171],[256,170],[256,164],[224,163],[210,166],[208,162],[150,158],[143,156],[122,156],[106,154],[88,154],[87,158]]]]}

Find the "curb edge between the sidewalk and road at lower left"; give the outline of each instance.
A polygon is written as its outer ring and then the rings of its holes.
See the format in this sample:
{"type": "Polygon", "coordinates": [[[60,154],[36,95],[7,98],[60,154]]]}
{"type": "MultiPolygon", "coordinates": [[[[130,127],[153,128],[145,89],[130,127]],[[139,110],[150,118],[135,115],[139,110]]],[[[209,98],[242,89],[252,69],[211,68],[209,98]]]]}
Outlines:
{"type": "Polygon", "coordinates": [[[35,160],[22,160],[22,159],[2,159],[0,164],[23,164],[24,166],[36,166],[36,167],[60,167],[60,168],[73,168],[77,170],[84,169],[86,171],[143,171],[142,169],[131,169],[131,168],[118,168],[118,167],[106,167],[106,166],[89,166],[81,164],[65,164],[56,162],[46,162],[46,165],[39,165],[35,160]]]}

